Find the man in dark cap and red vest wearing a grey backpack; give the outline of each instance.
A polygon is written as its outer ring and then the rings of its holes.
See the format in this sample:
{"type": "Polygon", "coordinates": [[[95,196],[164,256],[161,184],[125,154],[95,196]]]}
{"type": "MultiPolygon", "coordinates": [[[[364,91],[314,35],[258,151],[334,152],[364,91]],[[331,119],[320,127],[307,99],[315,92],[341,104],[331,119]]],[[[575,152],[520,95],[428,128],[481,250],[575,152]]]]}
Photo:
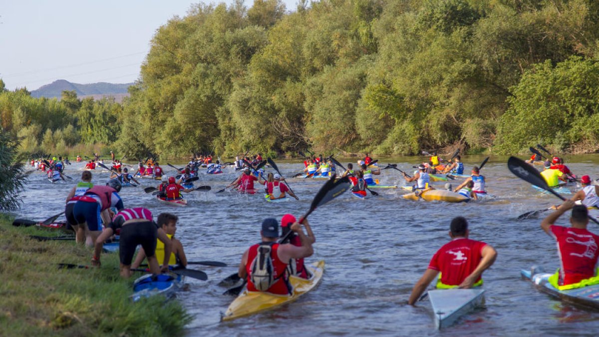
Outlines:
{"type": "Polygon", "coordinates": [[[300,246],[278,243],[279,223],[273,218],[264,219],[260,231],[262,242],[247,249],[239,265],[238,275],[242,279],[247,279],[248,291],[265,291],[277,295],[292,293],[293,288],[289,283],[287,272],[289,261],[292,258],[310,257],[314,252],[311,239],[304,234],[301,226],[298,222],[291,225],[291,230],[299,236],[300,246]],[[260,264],[255,261],[259,255],[265,259],[270,257],[273,266],[271,270],[266,270],[266,263],[260,264]]]}

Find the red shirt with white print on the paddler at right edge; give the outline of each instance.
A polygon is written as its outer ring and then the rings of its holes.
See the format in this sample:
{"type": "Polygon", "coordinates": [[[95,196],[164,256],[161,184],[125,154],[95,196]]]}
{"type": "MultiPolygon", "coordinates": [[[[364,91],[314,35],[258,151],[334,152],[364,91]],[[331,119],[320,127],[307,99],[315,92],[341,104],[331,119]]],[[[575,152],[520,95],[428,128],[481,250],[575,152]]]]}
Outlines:
{"type": "Polygon", "coordinates": [[[595,276],[599,236],[582,228],[551,225],[549,230],[557,241],[561,260],[558,284],[573,284],[595,276]]]}

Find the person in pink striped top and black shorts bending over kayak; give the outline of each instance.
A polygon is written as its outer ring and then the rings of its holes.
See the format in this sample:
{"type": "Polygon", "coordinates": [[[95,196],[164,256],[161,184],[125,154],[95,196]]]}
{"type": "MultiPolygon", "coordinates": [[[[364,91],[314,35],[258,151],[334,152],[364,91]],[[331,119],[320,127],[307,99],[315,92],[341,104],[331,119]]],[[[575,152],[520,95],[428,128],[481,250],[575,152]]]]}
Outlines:
{"type": "Polygon", "coordinates": [[[95,241],[95,248],[92,255],[92,265],[100,266],[100,253],[104,241],[109,239],[120,229],[119,240],[119,258],[120,258],[120,276],[129,278],[131,276],[131,261],[138,245],[144,249],[148,255],[148,264],[150,272],[159,274],[161,271],[168,270],[168,260],[171,256],[171,239],[152,219],[152,212],[149,209],[135,207],[122,209],[114,216],[102,234],[95,241]],[[164,243],[164,258],[162,261],[156,259],[156,239],[164,243]],[[158,263],[162,263],[162,267],[158,263]]]}

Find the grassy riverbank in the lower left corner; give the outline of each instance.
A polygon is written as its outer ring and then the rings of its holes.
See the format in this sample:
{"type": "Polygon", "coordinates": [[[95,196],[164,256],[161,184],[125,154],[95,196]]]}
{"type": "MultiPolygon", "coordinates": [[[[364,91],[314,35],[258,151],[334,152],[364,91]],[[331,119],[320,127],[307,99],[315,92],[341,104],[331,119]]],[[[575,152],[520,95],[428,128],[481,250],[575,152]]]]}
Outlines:
{"type": "Polygon", "coordinates": [[[89,265],[90,249],[28,234],[48,233],[13,227],[0,215],[0,335],[183,334],[190,317],[176,300],[129,300],[133,278],[119,277],[116,254],[104,254],[101,269],[58,269],[58,263],[89,265]]]}

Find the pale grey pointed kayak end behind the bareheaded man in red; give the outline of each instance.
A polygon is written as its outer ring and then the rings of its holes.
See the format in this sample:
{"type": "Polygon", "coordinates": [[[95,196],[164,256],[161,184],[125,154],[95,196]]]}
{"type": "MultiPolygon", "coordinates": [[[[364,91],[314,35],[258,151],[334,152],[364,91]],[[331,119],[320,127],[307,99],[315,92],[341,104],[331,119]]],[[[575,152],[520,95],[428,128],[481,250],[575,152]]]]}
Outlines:
{"type": "Polygon", "coordinates": [[[448,327],[462,315],[482,306],[484,293],[485,290],[480,288],[429,290],[428,297],[435,315],[435,328],[448,327]]]}

